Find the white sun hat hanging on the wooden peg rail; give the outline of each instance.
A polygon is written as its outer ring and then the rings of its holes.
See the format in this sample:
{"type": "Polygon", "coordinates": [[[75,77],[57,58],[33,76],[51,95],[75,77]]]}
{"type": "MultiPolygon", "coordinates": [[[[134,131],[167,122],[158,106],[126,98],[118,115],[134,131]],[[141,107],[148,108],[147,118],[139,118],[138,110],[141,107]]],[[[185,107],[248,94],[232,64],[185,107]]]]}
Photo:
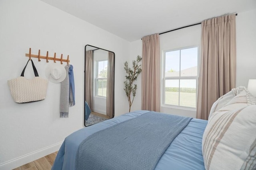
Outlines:
{"type": "Polygon", "coordinates": [[[45,76],[50,82],[60,83],[66,78],[66,69],[58,63],[49,64],[45,69],[45,76]]]}

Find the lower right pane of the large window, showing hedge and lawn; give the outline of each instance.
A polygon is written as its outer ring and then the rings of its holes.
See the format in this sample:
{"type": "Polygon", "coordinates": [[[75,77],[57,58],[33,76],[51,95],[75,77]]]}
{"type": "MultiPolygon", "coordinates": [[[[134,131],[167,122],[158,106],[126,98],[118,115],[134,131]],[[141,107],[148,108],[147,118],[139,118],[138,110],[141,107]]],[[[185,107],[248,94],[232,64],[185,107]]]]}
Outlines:
{"type": "Polygon", "coordinates": [[[196,80],[180,80],[180,106],[196,107],[196,80]]]}

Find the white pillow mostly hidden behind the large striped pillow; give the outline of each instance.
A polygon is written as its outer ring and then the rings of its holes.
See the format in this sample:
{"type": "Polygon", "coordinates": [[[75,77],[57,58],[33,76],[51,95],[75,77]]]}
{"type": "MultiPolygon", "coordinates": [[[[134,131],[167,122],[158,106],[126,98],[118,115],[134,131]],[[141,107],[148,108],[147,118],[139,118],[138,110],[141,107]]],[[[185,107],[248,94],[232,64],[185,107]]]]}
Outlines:
{"type": "Polygon", "coordinates": [[[221,96],[220,98],[218,98],[218,100],[216,100],[216,102],[214,102],[214,104],[211,107],[208,119],[211,118],[212,114],[215,111],[218,111],[220,108],[225,106],[228,102],[230,102],[230,100],[232,100],[232,98],[234,98],[236,95],[238,95],[240,92],[242,92],[245,89],[246,88],[244,86],[232,88],[232,90],[230,90],[230,92],[228,92],[228,93],[224,94],[223,96],[221,96]]]}

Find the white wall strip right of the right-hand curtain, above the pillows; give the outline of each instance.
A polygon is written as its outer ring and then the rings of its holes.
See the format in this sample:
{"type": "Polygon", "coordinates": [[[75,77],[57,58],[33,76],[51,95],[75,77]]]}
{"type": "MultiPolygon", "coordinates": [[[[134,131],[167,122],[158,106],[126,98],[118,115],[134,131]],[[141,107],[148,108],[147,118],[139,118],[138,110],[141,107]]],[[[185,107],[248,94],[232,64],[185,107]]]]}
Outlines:
{"type": "Polygon", "coordinates": [[[256,79],[256,9],[236,16],[236,86],[256,79]]]}

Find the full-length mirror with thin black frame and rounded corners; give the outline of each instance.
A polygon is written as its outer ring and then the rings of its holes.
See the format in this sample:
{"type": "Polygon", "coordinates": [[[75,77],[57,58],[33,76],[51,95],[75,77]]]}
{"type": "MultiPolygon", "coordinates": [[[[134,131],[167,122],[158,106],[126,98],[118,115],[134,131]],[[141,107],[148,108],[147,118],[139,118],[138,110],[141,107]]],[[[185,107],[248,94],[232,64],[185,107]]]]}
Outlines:
{"type": "Polygon", "coordinates": [[[85,46],[84,125],[114,117],[115,53],[85,46]]]}

